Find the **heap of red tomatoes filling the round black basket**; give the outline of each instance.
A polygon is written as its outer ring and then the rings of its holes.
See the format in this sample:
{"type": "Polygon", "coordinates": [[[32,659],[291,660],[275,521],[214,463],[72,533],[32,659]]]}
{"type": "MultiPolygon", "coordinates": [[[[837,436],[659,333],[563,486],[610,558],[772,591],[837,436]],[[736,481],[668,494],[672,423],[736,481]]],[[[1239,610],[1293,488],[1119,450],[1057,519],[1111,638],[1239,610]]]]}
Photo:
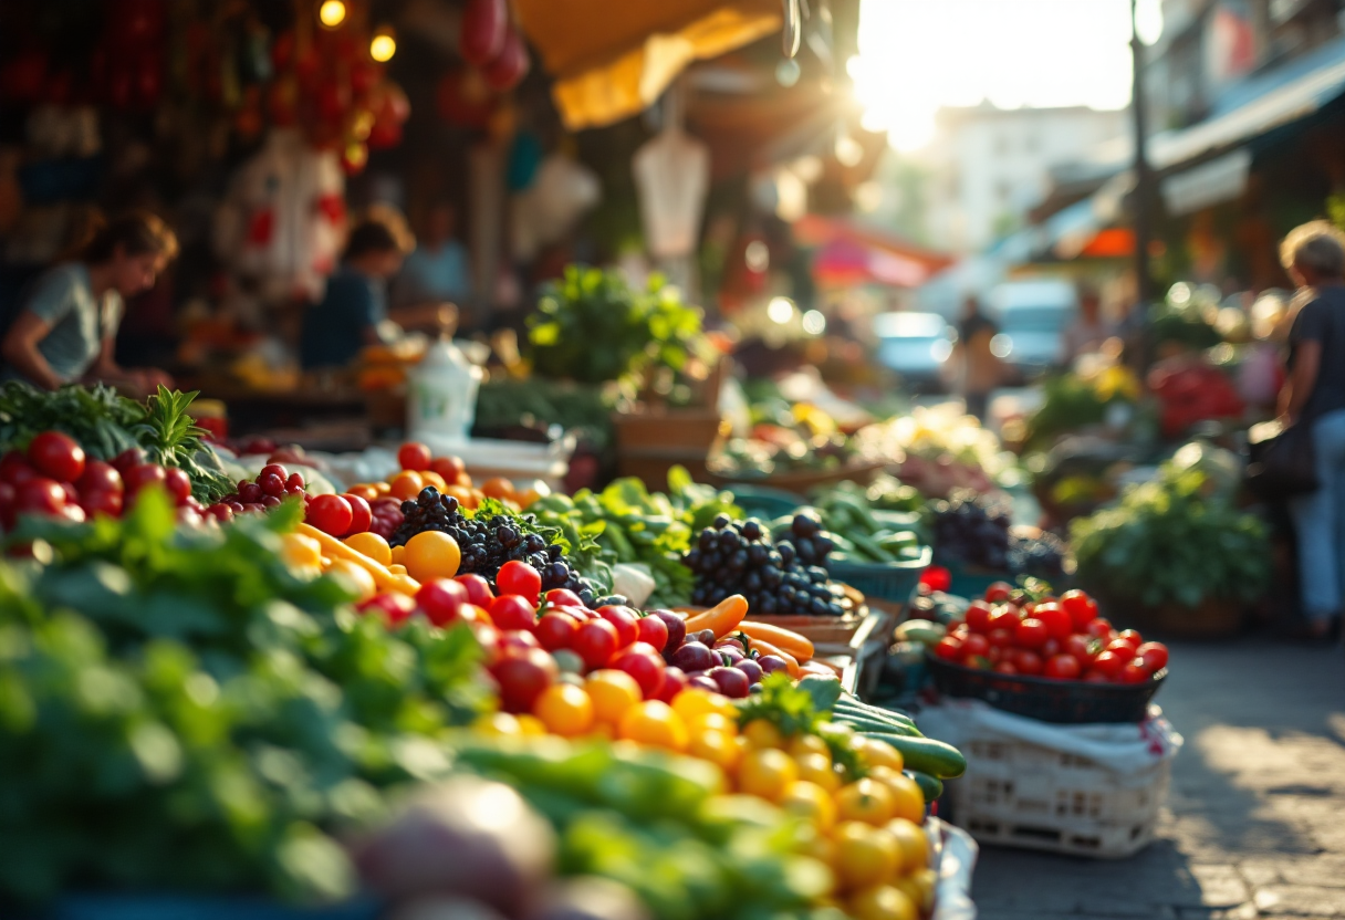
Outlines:
{"type": "MultiPolygon", "coordinates": [[[[1053,595],[997,582],[971,601],[932,654],[966,667],[1089,683],[1145,683],[1167,667],[1167,647],[1135,629],[1116,631],[1083,590],[1053,595]]],[[[904,638],[928,640],[933,623],[907,627],[904,638]]]]}

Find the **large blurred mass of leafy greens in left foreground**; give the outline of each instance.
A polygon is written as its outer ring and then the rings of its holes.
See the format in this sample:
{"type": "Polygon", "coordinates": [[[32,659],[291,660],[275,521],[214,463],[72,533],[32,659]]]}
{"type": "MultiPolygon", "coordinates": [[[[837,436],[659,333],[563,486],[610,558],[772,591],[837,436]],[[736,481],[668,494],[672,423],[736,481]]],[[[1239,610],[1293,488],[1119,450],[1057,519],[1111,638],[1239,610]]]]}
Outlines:
{"type": "Polygon", "coordinates": [[[299,508],[174,529],[147,492],[122,519],[27,519],[51,561],[0,562],[0,901],[73,886],[340,897],[338,835],[488,691],[469,629],[359,616],[280,560],[299,508]]]}

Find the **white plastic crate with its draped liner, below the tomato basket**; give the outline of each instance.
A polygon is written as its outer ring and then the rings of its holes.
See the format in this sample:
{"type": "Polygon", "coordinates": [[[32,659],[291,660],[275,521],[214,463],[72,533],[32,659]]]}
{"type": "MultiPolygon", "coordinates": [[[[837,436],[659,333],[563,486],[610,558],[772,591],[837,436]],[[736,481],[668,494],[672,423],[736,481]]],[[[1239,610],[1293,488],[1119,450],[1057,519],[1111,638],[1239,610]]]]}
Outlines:
{"type": "Polygon", "coordinates": [[[1181,745],[1165,720],[1064,726],[985,709],[939,706],[920,717],[927,734],[967,756],[946,802],[972,837],[1100,858],[1127,857],[1153,841],[1181,745]]]}

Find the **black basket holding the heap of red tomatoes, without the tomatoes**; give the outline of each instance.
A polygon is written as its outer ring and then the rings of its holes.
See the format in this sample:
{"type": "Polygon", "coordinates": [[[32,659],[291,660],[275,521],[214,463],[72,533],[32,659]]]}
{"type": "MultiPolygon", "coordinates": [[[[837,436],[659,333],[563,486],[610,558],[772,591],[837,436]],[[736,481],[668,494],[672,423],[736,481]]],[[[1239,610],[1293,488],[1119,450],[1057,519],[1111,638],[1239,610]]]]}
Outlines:
{"type": "Polygon", "coordinates": [[[929,675],[948,697],[983,699],[995,709],[1059,725],[1142,722],[1167,668],[1143,683],[1084,683],[997,674],[925,655],[929,675]]]}

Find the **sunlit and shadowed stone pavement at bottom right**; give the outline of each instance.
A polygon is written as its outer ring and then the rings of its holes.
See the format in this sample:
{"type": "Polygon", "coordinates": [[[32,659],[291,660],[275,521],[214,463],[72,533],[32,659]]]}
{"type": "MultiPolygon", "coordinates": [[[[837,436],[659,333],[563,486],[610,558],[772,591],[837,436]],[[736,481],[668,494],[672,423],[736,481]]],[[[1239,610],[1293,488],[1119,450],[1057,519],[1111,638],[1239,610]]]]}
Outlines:
{"type": "Polygon", "coordinates": [[[1122,861],[986,846],[982,920],[1345,917],[1345,654],[1171,646],[1186,744],[1158,838],[1122,861]]]}

